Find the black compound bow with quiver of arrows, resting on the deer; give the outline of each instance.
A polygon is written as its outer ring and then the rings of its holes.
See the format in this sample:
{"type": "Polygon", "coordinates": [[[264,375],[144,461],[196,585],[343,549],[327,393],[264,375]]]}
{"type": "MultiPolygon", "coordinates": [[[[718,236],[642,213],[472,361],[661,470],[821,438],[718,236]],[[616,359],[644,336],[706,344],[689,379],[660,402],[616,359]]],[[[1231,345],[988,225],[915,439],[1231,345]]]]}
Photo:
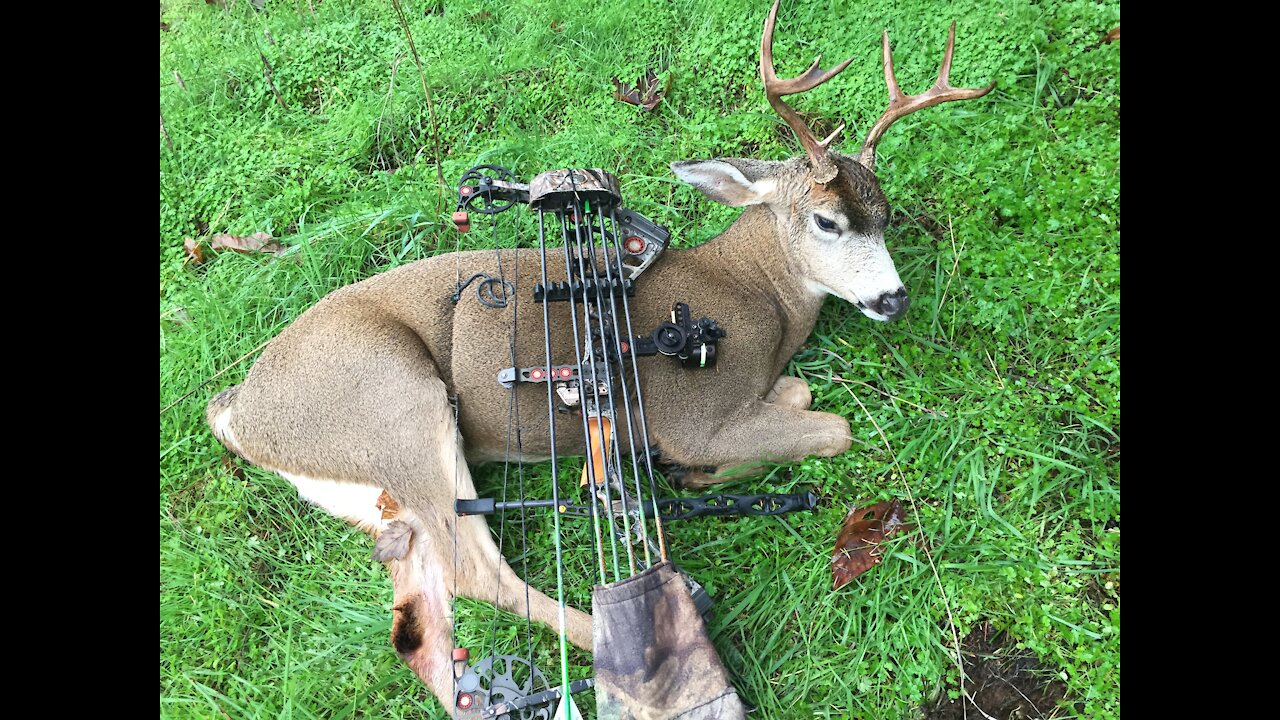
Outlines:
{"type": "MultiPolygon", "coordinates": [[[[671,236],[662,225],[622,206],[617,178],[599,169],[562,169],[543,173],[525,184],[517,182],[515,173],[506,168],[477,165],[467,170],[458,183],[453,222],[460,233],[460,245],[461,233],[471,229],[471,213],[490,219],[498,275],[476,273],[463,281],[458,272],[457,291],[452,300],[454,304],[461,301],[462,292],[479,281],[477,302],[488,307],[507,307],[513,304],[511,366],[500,370],[495,378],[495,382],[511,389],[508,450],[503,469],[503,500],[456,498],[456,510],[458,515],[518,510],[522,537],[526,510],[553,511],[556,597],[561,610],[561,678],[558,685],[552,685],[535,666],[531,641],[529,657],[490,655],[474,664],[470,661],[470,651],[458,647],[452,656],[456,685],[452,712],[456,717],[572,719],[580,716],[573,694],[591,688],[594,680],[571,680],[568,676],[562,518],[581,518],[591,523],[595,565],[603,587],[611,580],[617,583],[623,578],[636,577],[637,573],[668,560],[663,536],[663,524],[667,521],[703,515],[778,515],[813,510],[817,497],[806,493],[658,498],[654,479],[657,448],[649,438],[636,359],[666,355],[691,370],[713,368],[718,341],[726,333],[709,318],[695,320],[689,305],[682,301],[673,304],[671,322],[659,324],[648,334],[635,333],[630,299],[636,293],[636,278],[657,261],[671,236]],[[529,205],[536,214],[541,269],[541,282],[532,288],[530,297],[543,310],[544,357],[539,359],[541,363],[535,361],[536,364],[527,366],[521,366],[516,357],[518,288],[506,277],[497,242],[497,215],[516,205],[529,205]],[[547,249],[548,232],[559,234],[563,241],[564,281],[552,282],[549,278],[548,268],[553,261],[547,249]],[[558,348],[558,354],[552,347],[552,302],[566,302],[572,323],[573,346],[558,348]],[[566,357],[570,350],[572,355],[566,357]],[[516,400],[517,386],[524,383],[540,383],[547,388],[552,447],[550,498],[531,500],[525,496],[524,465],[520,460],[520,410],[516,400]],[[571,502],[568,493],[562,492],[557,473],[557,413],[576,414],[581,419],[588,452],[580,486],[588,491],[589,505],[571,502]],[[623,420],[621,423],[620,413],[623,420]],[[620,441],[620,424],[625,428],[625,442],[620,441]],[[507,501],[512,427],[517,428],[517,501],[507,501]],[[630,456],[631,484],[627,483],[623,455],[630,456]],[[644,500],[645,486],[648,500],[644,500]],[[649,521],[653,524],[652,530],[649,521]],[[620,544],[622,555],[618,552],[620,544]]],[[[518,265],[518,247],[516,252],[518,265]]],[[[710,596],[689,575],[681,577],[698,612],[705,616],[712,606],[710,596]]]]}

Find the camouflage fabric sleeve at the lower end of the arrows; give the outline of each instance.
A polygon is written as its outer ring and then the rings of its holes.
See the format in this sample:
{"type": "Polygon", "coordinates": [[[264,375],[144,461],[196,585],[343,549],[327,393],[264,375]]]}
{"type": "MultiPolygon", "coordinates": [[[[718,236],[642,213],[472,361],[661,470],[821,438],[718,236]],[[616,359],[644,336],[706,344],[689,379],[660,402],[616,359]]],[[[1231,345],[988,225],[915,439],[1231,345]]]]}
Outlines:
{"type": "Polygon", "coordinates": [[[591,593],[599,720],[742,720],[684,579],[669,562],[591,593]]]}

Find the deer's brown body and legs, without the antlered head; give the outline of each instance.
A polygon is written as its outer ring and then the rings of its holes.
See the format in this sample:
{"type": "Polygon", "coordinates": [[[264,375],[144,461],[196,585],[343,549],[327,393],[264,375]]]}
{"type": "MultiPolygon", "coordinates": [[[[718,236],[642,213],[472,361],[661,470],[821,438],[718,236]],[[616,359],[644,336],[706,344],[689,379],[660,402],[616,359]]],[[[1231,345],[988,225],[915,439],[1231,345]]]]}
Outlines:
{"type": "MultiPolygon", "coordinates": [[[[712,370],[640,359],[650,439],[663,457],[736,468],[836,455],[850,445],[844,418],[809,411],[808,387],[778,377],[813,329],[824,296],[804,286],[776,227],[772,213],[754,208],[712,242],[668,250],[637,279],[636,332],[668,319],[675,299],[689,299],[730,333],[712,370]]],[[[497,375],[511,365],[513,309],[517,361],[539,365],[545,356],[541,306],[531,301],[541,266],[535,251],[516,255],[503,254],[521,293],[506,309],[486,307],[471,293],[457,306],[451,300],[458,263],[463,277],[492,273],[497,259],[490,251],[420,260],[334,291],[285,328],[244,382],[214,397],[207,410],[229,448],[278,471],[308,501],[375,537],[393,518],[408,524],[415,542],[388,556],[397,588],[393,643],[439,697],[448,697],[452,680],[436,651],[448,642],[456,550],[463,569],[456,579],[460,594],[492,600],[502,583],[499,603],[525,612],[520,580],[484,520],[453,512],[456,497],[476,496],[466,462],[502,460],[507,450],[509,391],[497,375]],[[449,404],[454,395],[461,432],[449,404]],[[398,506],[393,516],[376,507],[383,493],[398,506]],[[417,652],[422,648],[431,652],[417,652]]],[[[548,273],[563,279],[563,263],[548,273]]],[[[553,302],[550,311],[554,354],[572,341],[567,304],[553,302]]],[[[553,356],[554,363],[572,360],[553,356]]],[[[547,414],[539,411],[545,388],[517,384],[517,392],[529,409],[520,418],[524,454],[544,459],[550,454],[547,414]]],[[[573,433],[577,423],[557,416],[558,452],[585,452],[573,433]]],[[[531,591],[529,610],[556,625],[549,597],[531,591]]],[[[590,648],[590,618],[573,610],[570,619],[571,641],[590,648]]]]}

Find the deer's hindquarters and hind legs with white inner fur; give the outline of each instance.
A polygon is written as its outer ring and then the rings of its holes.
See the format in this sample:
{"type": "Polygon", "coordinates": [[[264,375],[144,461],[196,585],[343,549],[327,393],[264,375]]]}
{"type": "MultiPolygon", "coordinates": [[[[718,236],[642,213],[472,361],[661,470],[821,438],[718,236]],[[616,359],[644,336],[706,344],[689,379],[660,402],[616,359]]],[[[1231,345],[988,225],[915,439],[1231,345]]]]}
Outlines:
{"type": "MultiPolygon", "coordinates": [[[[339,309],[330,310],[332,322],[339,309]]],[[[458,523],[453,502],[475,497],[475,486],[426,347],[407,328],[365,316],[356,350],[349,338],[308,325],[314,316],[300,318],[241,386],[210,401],[210,425],[238,455],[378,538],[376,556],[389,562],[394,584],[392,644],[452,708],[454,588],[492,602],[498,577],[499,600],[524,611],[522,583],[504,568],[484,519],[458,523]],[[385,502],[378,506],[384,492],[393,518],[385,516],[385,502]],[[488,584],[477,589],[484,578],[488,584]]],[[[534,592],[530,601],[538,620],[558,626],[558,609],[548,610],[553,601],[534,592]]],[[[571,637],[590,647],[590,618],[570,616],[571,637]]]]}

